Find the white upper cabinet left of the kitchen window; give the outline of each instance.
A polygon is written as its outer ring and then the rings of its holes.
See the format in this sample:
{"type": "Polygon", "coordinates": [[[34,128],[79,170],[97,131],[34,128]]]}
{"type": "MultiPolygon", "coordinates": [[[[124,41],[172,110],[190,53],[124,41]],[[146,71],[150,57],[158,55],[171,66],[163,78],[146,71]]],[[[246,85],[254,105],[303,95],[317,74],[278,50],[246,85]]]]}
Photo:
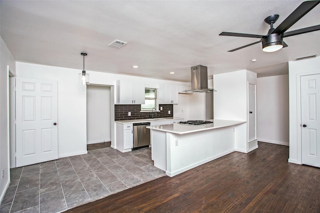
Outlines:
{"type": "Polygon", "coordinates": [[[116,81],[116,104],[144,104],[144,84],[133,81],[116,81]]]}

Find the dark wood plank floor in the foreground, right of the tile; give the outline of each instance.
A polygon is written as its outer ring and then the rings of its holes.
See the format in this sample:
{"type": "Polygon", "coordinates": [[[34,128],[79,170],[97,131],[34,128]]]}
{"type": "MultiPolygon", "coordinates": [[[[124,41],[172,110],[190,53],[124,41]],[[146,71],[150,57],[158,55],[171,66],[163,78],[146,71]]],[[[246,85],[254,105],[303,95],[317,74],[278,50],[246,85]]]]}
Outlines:
{"type": "Polygon", "coordinates": [[[288,163],[287,146],[258,146],[67,212],[319,213],[320,169],[288,163]]]}

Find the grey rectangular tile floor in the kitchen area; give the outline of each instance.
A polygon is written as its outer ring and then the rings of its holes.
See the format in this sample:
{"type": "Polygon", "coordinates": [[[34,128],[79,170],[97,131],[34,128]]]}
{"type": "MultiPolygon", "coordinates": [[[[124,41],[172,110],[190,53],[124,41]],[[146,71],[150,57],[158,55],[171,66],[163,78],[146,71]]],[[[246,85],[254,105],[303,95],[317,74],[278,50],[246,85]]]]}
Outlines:
{"type": "Polygon", "coordinates": [[[151,148],[112,148],[11,169],[0,213],[56,213],[165,176],[151,148]]]}

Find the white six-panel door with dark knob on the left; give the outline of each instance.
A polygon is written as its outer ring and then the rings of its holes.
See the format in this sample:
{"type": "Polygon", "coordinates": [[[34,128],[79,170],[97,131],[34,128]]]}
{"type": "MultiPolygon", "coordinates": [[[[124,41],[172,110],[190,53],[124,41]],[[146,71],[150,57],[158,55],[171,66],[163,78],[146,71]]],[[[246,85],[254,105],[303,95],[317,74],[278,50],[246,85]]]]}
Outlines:
{"type": "Polygon", "coordinates": [[[57,81],[16,78],[16,167],[57,158],[57,81]]]}

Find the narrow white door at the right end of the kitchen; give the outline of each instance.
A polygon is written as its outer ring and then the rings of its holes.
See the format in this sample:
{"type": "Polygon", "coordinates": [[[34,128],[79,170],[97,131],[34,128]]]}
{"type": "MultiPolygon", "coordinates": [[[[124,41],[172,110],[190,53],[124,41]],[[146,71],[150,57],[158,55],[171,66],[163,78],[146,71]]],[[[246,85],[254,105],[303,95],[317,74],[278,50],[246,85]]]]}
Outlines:
{"type": "Polygon", "coordinates": [[[256,139],[255,85],[248,84],[248,142],[256,139]]]}

